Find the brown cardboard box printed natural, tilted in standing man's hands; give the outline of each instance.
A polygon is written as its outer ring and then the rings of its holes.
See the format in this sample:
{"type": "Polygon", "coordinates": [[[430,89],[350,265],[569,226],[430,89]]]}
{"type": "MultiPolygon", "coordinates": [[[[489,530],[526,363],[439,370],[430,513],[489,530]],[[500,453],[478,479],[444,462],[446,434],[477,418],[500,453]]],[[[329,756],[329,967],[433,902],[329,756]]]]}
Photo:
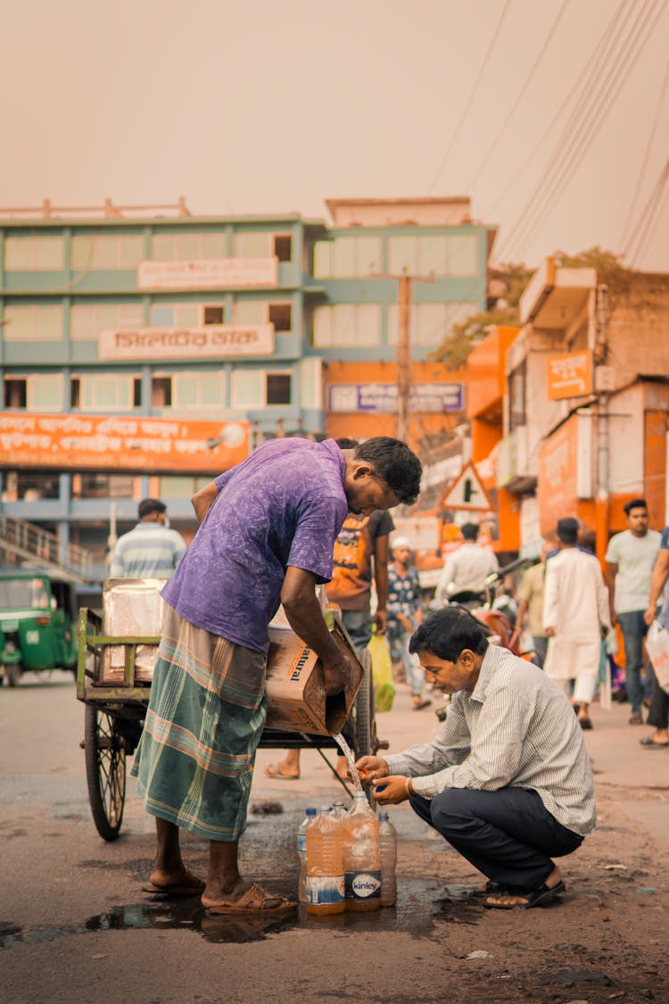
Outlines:
{"type": "Polygon", "coordinates": [[[335,619],[331,635],[353,656],[358,672],[341,694],[327,697],[323,667],[290,628],[270,625],[267,660],[267,727],[331,736],[341,732],[362,684],[364,670],[335,619]]]}

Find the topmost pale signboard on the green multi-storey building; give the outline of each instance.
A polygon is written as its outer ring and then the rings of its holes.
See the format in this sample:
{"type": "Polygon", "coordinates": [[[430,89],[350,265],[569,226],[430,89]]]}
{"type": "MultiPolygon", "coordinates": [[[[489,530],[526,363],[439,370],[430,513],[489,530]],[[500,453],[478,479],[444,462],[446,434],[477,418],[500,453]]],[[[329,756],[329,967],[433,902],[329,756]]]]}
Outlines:
{"type": "Polygon", "coordinates": [[[236,289],[276,286],[279,259],[204,258],[196,261],[140,261],[138,289],[236,289]]]}

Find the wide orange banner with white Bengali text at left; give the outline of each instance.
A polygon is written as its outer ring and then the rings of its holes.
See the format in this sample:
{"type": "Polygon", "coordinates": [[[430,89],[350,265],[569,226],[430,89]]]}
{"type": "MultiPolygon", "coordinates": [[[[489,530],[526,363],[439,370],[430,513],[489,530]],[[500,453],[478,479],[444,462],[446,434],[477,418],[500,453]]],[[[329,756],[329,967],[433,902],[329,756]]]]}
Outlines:
{"type": "Polygon", "coordinates": [[[218,474],[249,456],[247,422],[0,412],[0,465],[218,474]]]}

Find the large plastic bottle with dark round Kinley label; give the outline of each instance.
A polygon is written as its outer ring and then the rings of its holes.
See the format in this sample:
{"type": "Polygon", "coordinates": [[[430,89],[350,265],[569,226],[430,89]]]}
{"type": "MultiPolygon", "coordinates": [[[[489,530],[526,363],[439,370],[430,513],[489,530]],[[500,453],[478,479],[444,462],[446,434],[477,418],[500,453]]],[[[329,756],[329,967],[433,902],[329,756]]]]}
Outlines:
{"type": "Polygon", "coordinates": [[[378,910],[381,906],[379,821],[364,792],[356,792],[343,827],[347,910],[378,910]]]}

